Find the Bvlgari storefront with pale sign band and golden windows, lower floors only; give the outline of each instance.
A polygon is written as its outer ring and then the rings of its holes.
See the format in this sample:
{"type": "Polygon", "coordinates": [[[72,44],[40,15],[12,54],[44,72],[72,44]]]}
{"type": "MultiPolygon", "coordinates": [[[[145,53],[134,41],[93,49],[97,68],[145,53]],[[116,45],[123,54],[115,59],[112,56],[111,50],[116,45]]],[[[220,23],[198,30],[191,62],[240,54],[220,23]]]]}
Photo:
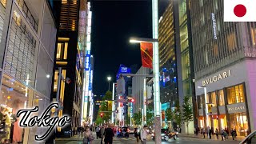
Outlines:
{"type": "Polygon", "coordinates": [[[250,76],[246,66],[248,63],[240,62],[196,80],[199,128],[208,125],[214,132],[235,129],[238,136],[246,136],[254,130],[256,85],[253,83],[256,78],[250,76]]]}

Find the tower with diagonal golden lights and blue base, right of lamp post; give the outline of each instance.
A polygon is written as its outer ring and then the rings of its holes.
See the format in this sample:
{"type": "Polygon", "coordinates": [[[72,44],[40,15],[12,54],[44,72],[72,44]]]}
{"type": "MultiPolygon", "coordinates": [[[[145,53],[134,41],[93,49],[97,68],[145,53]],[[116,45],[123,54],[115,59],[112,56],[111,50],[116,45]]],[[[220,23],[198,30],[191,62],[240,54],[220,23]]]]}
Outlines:
{"type": "Polygon", "coordinates": [[[170,1],[159,19],[160,96],[162,104],[178,99],[175,55],[174,2],[170,1]]]}

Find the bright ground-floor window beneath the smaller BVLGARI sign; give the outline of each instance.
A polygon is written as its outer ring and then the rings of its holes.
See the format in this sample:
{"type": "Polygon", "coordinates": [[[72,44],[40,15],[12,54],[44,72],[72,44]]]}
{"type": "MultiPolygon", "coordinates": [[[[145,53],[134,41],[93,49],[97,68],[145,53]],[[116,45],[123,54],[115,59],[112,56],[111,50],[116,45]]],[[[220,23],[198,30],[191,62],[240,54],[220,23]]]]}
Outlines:
{"type": "Polygon", "coordinates": [[[230,114],[230,129],[235,129],[238,136],[245,136],[248,128],[246,113],[230,114]]]}

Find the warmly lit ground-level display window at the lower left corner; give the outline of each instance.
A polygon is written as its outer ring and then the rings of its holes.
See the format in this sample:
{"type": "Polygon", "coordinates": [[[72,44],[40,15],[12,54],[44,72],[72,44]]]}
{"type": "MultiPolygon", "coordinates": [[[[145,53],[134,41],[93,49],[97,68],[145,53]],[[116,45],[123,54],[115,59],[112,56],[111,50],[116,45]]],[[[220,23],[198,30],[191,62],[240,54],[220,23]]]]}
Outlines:
{"type": "Polygon", "coordinates": [[[0,122],[1,142],[23,142],[25,130],[19,127],[19,118],[16,117],[18,110],[31,106],[33,90],[15,81],[6,74],[2,77],[0,93],[0,122]]]}

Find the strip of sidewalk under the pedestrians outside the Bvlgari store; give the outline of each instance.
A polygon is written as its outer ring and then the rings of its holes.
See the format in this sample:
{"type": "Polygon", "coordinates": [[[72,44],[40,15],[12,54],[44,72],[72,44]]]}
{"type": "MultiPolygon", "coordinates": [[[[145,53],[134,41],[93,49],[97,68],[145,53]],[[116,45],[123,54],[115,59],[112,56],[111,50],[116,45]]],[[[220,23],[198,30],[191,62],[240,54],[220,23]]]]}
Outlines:
{"type": "MultiPolygon", "coordinates": [[[[196,134],[189,134],[189,135],[187,135],[187,134],[182,133],[182,134],[178,134],[178,137],[180,137],[180,138],[182,138],[182,137],[183,138],[184,137],[186,137],[186,138],[202,138],[203,139],[203,135],[202,134],[198,134],[198,135],[196,135],[196,134]]],[[[237,136],[235,138],[235,141],[241,142],[244,138],[246,138],[246,137],[245,136],[237,136]]],[[[206,134],[206,139],[209,139],[209,138],[207,138],[207,134],[206,134]]],[[[211,135],[211,139],[209,139],[209,140],[221,141],[222,140],[222,135],[221,134],[218,135],[218,139],[216,138],[215,134],[211,135]]],[[[233,141],[232,136],[229,136],[228,139],[226,139],[226,141],[233,141]]]]}

